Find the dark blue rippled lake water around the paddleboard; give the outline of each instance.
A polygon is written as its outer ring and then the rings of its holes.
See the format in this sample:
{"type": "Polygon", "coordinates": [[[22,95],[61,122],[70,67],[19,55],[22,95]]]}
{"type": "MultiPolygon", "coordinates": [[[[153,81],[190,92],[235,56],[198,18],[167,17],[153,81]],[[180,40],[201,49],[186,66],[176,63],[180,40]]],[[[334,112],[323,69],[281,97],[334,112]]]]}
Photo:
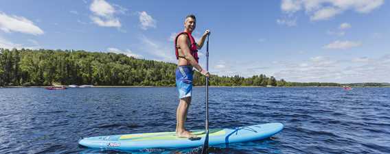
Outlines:
{"type": "MultiPolygon", "coordinates": [[[[187,128],[203,129],[205,88],[187,128]]],[[[0,88],[0,153],[126,153],[78,146],[81,137],[174,131],[175,88],[0,88]]],[[[209,88],[209,127],[283,123],[275,138],[213,153],[390,153],[390,88],[209,88]]],[[[148,149],[128,153],[196,153],[148,149]]]]}

